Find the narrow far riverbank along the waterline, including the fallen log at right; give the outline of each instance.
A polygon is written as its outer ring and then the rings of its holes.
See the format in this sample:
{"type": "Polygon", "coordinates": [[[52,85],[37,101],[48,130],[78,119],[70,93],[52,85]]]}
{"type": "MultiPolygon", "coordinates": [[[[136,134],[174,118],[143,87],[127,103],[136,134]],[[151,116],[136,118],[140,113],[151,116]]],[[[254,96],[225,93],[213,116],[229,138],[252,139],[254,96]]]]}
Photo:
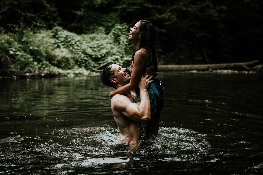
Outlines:
{"type": "MultiPolygon", "coordinates": [[[[74,77],[74,76],[99,76],[108,63],[103,63],[93,70],[76,68],[73,70],[62,70],[56,67],[45,68],[41,72],[21,73],[18,75],[3,75],[0,78],[41,78],[41,77],[74,77]]],[[[258,60],[244,63],[222,63],[222,64],[199,64],[199,65],[159,65],[159,72],[189,72],[189,73],[262,73],[263,65],[258,60]]]]}

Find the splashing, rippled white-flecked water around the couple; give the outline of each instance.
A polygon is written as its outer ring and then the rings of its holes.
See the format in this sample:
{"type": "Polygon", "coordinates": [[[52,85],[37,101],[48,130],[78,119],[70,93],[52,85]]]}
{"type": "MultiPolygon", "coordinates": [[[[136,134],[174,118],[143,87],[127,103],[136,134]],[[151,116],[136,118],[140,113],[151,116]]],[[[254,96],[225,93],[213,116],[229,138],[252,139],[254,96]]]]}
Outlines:
{"type": "MultiPolygon", "coordinates": [[[[49,168],[92,167],[124,163],[130,159],[127,139],[120,140],[117,128],[110,127],[64,128],[42,137],[7,137],[0,143],[2,148],[5,144],[13,148],[5,147],[6,162],[13,160],[17,165],[44,159],[54,162],[49,168]],[[14,154],[13,151],[20,153],[14,154]]],[[[144,140],[141,149],[133,155],[159,155],[160,161],[189,160],[200,157],[209,149],[205,135],[183,128],[160,127],[159,134],[144,140]]]]}

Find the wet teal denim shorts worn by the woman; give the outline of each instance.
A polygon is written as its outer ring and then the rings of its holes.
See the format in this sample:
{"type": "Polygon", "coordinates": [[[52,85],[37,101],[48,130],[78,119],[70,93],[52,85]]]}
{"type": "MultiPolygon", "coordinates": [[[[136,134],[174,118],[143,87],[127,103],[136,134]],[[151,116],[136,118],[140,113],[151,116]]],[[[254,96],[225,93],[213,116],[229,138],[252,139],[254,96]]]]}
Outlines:
{"type": "MultiPolygon", "coordinates": [[[[148,94],[150,98],[150,104],[151,104],[151,116],[155,115],[156,113],[161,113],[162,109],[164,107],[164,97],[163,97],[163,90],[164,87],[162,86],[162,82],[160,81],[160,78],[153,77],[153,82],[150,84],[150,87],[148,89],[148,94]]],[[[139,88],[136,87],[135,93],[137,96],[136,102],[141,101],[140,91],[139,88]]]]}

